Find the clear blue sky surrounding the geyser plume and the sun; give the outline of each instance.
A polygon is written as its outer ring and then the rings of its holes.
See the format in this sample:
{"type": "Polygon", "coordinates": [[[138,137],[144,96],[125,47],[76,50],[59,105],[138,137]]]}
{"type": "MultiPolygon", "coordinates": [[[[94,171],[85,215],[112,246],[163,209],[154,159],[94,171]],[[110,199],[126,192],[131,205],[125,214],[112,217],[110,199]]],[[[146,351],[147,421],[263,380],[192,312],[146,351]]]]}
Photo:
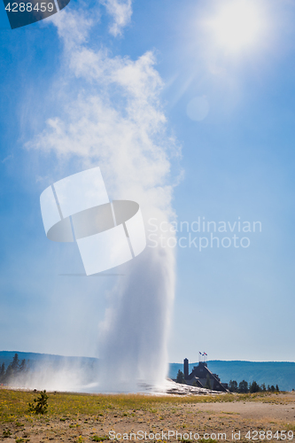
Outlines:
{"type": "MultiPolygon", "coordinates": [[[[203,29],[216,10],[211,0],[135,0],[117,36],[105,7],[87,6],[100,15],[89,45],[132,60],[155,53],[167,131],[182,146],[171,159],[178,221],[240,217],[262,226],[245,235],[247,248],[176,248],[169,361],[196,361],[198,351],[212,360],[295,361],[295,8],[258,3],[263,29],[235,52],[203,29]],[[204,120],[188,116],[195,97],[208,104],[204,120]]],[[[72,0],[65,11],[79,7],[72,0]]],[[[10,30],[4,8],[0,17],[0,348],[96,356],[113,282],[59,276],[82,272],[82,263],[74,245],[46,239],[39,208],[50,179],[77,172],[79,161],[26,148],[59,113],[62,43],[50,21],[10,30]]]]}

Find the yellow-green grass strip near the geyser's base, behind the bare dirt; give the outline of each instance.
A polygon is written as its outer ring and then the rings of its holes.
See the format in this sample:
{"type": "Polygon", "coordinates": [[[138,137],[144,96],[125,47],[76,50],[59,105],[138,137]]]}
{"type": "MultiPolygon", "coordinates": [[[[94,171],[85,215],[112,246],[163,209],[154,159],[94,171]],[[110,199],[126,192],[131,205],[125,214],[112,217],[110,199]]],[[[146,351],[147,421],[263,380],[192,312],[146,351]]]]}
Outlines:
{"type": "MultiPolygon", "coordinates": [[[[0,389],[0,423],[14,420],[21,416],[30,416],[27,404],[36,397],[36,392],[0,389]]],[[[253,394],[221,394],[195,396],[150,396],[143,394],[79,394],[50,392],[47,416],[104,416],[117,410],[132,415],[138,410],[157,414],[163,406],[194,405],[198,403],[216,403],[233,401],[262,401],[265,403],[288,404],[294,401],[290,392],[273,394],[258,392],[253,394]]],[[[175,409],[176,411],[176,409],[175,409]]]]}

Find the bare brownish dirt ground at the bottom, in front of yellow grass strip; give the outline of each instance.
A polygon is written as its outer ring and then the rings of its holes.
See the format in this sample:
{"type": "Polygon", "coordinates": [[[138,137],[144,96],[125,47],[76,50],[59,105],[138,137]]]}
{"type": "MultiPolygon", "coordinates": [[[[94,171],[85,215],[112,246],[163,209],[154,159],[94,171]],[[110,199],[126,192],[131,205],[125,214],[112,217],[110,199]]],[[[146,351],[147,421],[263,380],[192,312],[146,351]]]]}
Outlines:
{"type": "MultiPolygon", "coordinates": [[[[96,397],[85,395],[81,398],[96,397]]],[[[181,399],[176,396],[173,399],[170,396],[158,399],[138,396],[138,402],[132,403],[132,408],[126,403],[120,406],[117,400],[110,400],[99,413],[15,416],[15,419],[6,419],[0,424],[0,440],[7,443],[47,440],[82,443],[106,439],[139,442],[198,440],[208,443],[213,440],[286,440],[295,443],[295,392],[255,398],[236,395],[233,399],[221,400],[219,397],[218,401],[208,401],[208,396],[198,396],[198,400],[191,399],[191,396],[181,399]]]]}

